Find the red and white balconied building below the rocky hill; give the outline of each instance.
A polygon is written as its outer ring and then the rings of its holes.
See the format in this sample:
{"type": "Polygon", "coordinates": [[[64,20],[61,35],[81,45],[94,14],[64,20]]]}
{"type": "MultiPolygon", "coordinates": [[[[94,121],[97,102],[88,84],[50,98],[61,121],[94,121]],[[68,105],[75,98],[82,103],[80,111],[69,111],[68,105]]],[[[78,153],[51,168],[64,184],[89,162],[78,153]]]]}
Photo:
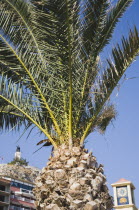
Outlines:
{"type": "Polygon", "coordinates": [[[34,184],[19,179],[0,178],[0,210],[33,210],[34,184]]]}

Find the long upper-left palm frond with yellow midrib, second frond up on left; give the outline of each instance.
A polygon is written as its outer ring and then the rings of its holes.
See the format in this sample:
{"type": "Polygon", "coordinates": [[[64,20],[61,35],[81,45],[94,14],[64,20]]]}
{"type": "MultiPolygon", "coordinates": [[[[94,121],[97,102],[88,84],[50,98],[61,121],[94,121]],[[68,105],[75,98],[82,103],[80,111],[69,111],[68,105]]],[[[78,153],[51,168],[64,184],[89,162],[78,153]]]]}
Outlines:
{"type": "MultiPolygon", "coordinates": [[[[3,5],[5,8],[5,4],[3,5]]],[[[4,8],[1,11],[2,20],[7,15],[7,10],[9,7],[6,7],[5,10],[4,8]]],[[[39,53],[34,50],[34,42],[31,39],[30,32],[26,30],[25,26],[22,25],[22,22],[18,25],[21,30],[13,30],[13,25],[17,23],[14,21],[14,19],[12,19],[14,12],[10,9],[8,11],[8,20],[6,22],[7,24],[4,24],[3,21],[0,23],[0,27],[3,31],[0,34],[0,62],[4,63],[5,65],[10,65],[10,69],[13,68],[13,71],[16,71],[18,74],[20,74],[20,76],[24,75],[25,80],[29,81],[28,86],[34,89],[34,93],[37,92],[37,94],[40,95],[42,102],[45,104],[46,109],[48,110],[55,124],[57,132],[60,134],[61,131],[54,117],[54,114],[46,102],[45,96],[43,95],[43,86],[42,84],[38,84],[36,82],[36,80],[38,81],[39,76],[42,78],[42,76],[39,74],[40,71],[37,71],[36,74],[36,70],[43,67],[42,62],[39,61],[39,53]],[[22,35],[22,37],[18,37],[18,35],[22,35]],[[28,45],[26,45],[27,41],[28,45]],[[19,66],[18,69],[17,65],[19,66]]]]}

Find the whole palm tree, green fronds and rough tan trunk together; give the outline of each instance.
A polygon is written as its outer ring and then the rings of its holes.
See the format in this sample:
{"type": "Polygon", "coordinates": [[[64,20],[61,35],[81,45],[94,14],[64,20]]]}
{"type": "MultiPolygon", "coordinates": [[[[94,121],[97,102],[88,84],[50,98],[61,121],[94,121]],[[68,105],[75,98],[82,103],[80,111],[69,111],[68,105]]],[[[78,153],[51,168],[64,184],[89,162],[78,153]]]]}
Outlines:
{"type": "Polygon", "coordinates": [[[0,129],[37,127],[54,147],[37,209],[111,209],[102,165],[83,145],[115,117],[110,95],[139,53],[134,26],[100,62],[131,2],[0,0],[0,129]]]}

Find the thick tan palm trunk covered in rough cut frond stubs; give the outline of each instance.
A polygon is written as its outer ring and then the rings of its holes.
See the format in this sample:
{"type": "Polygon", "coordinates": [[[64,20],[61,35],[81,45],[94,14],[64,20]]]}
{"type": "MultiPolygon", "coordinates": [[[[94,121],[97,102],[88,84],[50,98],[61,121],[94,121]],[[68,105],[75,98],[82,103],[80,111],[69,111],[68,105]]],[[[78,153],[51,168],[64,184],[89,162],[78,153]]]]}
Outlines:
{"type": "Polygon", "coordinates": [[[62,145],[42,169],[34,189],[39,210],[110,210],[103,166],[86,149],[62,145]]]}

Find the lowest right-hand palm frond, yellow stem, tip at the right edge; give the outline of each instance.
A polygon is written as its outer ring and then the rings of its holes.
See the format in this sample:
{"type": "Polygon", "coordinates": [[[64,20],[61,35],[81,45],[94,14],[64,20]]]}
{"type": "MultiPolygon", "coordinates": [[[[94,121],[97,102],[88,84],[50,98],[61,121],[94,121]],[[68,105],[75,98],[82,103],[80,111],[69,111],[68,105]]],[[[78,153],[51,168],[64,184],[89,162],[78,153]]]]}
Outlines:
{"type": "Polygon", "coordinates": [[[98,114],[103,109],[112,91],[138,54],[139,34],[136,27],[134,27],[133,31],[130,30],[128,38],[122,38],[122,46],[117,44],[117,46],[113,48],[113,60],[107,59],[108,67],[104,70],[102,77],[96,82],[98,87],[93,90],[95,93],[94,114],[86,124],[81,142],[84,141],[84,138],[90,132],[91,127],[95,124],[98,114]]]}

